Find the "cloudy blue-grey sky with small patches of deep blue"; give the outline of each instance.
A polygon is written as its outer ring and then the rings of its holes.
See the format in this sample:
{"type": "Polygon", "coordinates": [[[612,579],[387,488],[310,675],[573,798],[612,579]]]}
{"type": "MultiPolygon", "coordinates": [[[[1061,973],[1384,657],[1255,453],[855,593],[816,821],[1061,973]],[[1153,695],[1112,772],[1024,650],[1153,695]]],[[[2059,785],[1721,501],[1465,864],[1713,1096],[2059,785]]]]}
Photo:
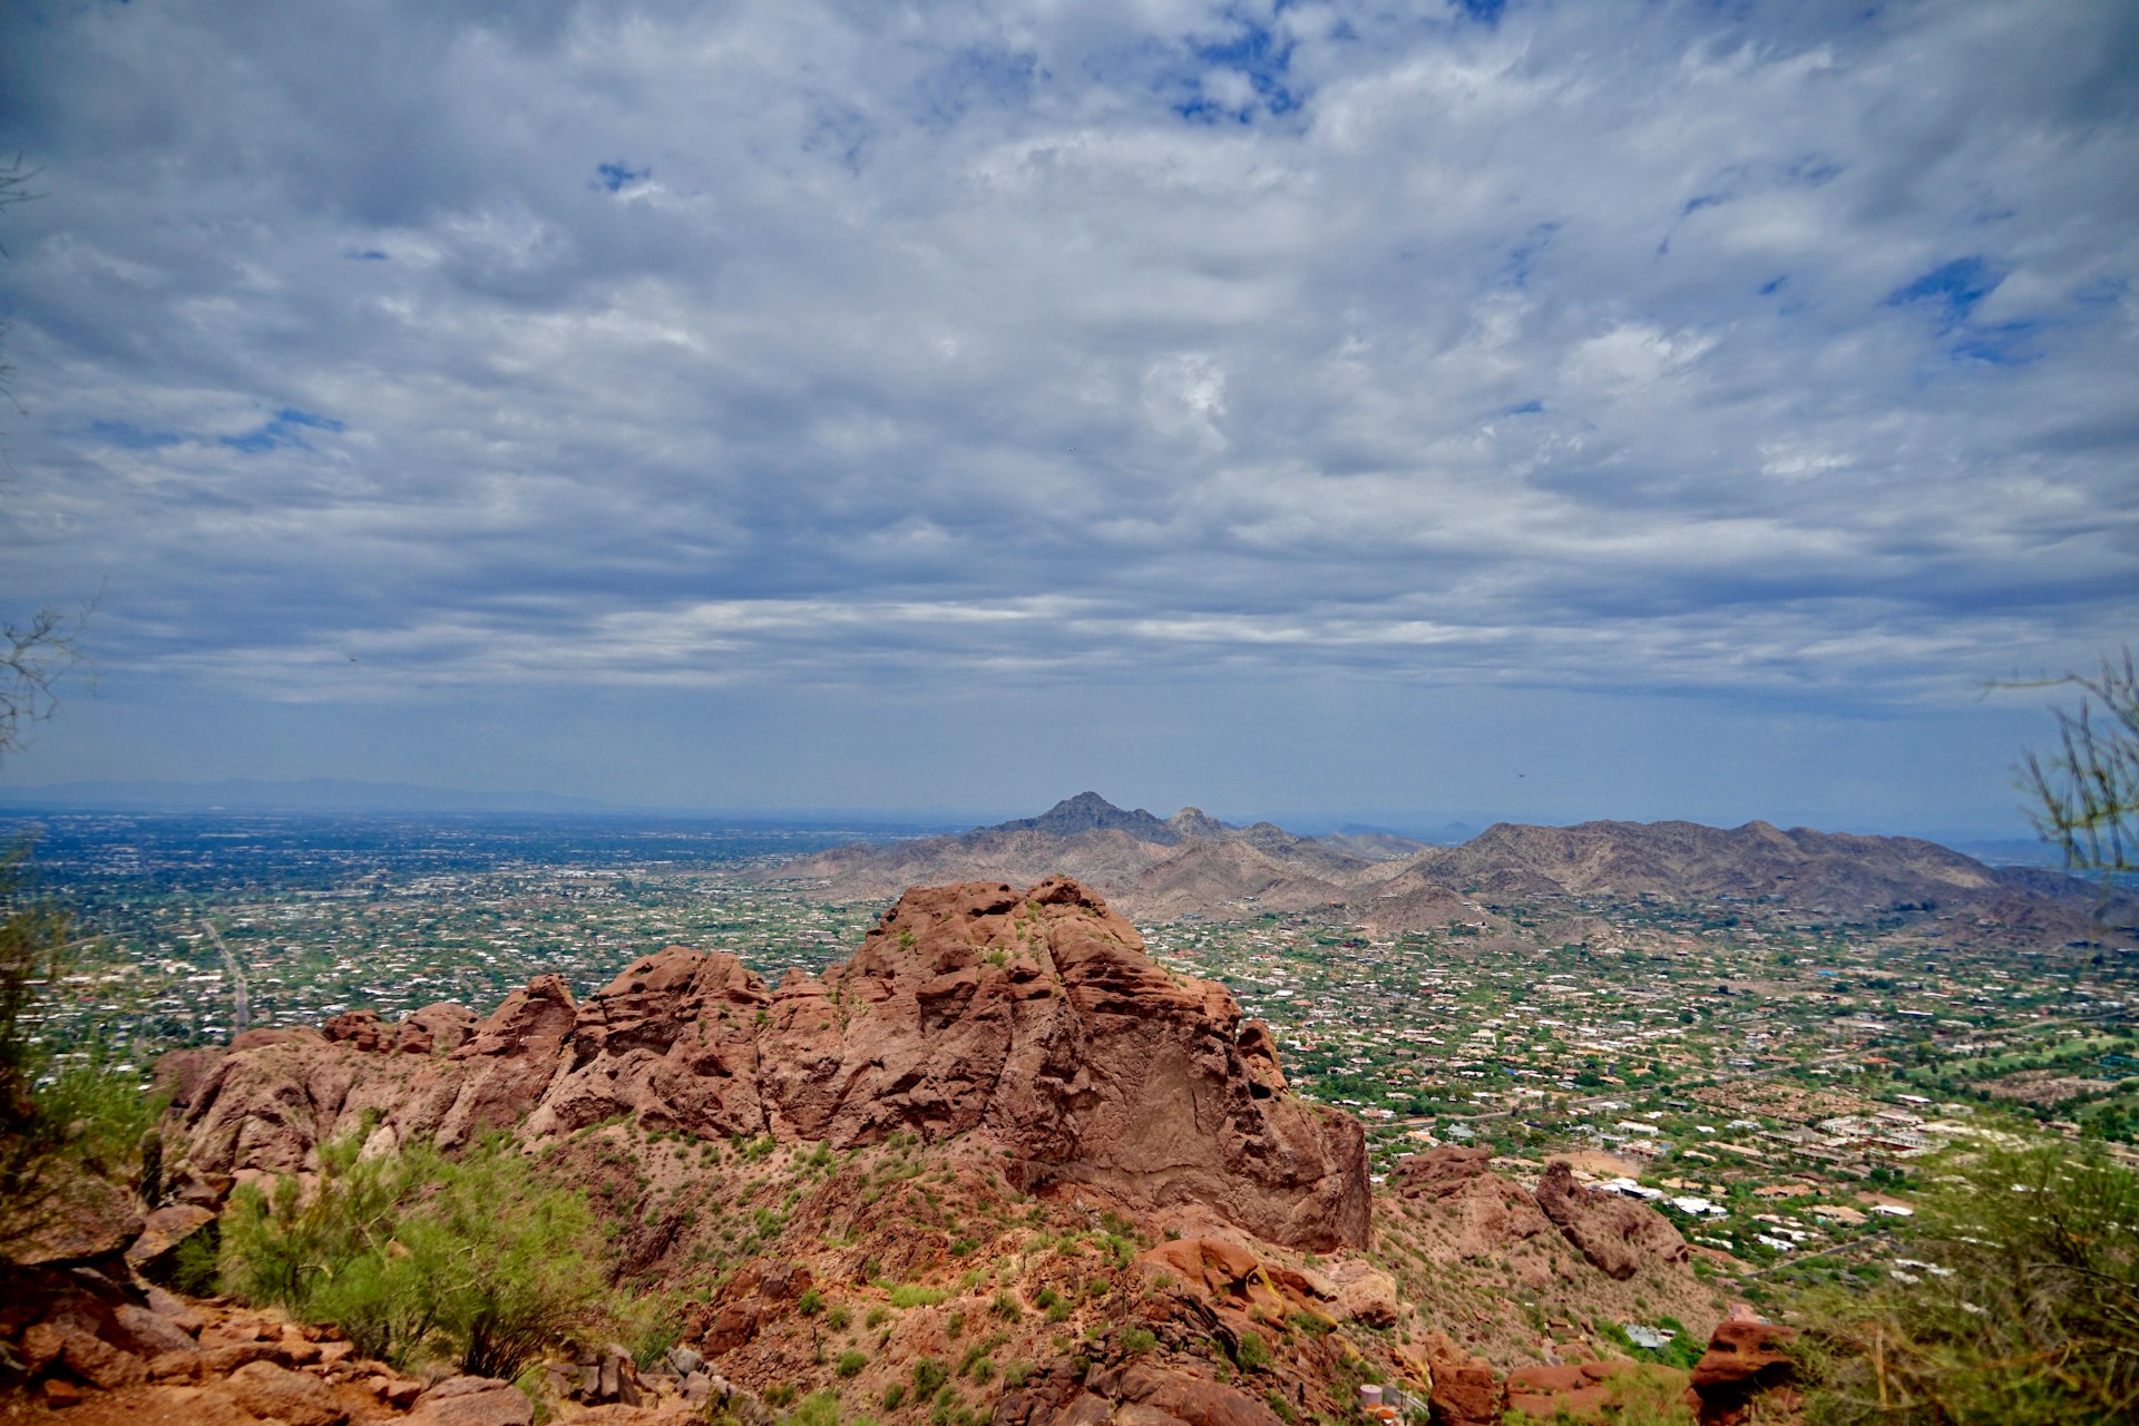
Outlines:
{"type": "Polygon", "coordinates": [[[15,0],[0,768],[2021,830],[2139,6],[15,0]]]}

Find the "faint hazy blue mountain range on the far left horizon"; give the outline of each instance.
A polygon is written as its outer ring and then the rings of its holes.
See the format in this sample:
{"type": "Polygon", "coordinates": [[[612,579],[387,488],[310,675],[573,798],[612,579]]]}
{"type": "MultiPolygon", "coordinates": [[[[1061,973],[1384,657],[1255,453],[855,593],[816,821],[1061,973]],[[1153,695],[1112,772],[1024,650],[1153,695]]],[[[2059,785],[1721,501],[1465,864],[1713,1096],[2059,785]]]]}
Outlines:
{"type": "Polygon", "coordinates": [[[533,791],[464,791],[415,782],[304,778],[263,782],[47,782],[0,787],[0,808],[86,812],[603,812],[590,797],[533,791]]]}

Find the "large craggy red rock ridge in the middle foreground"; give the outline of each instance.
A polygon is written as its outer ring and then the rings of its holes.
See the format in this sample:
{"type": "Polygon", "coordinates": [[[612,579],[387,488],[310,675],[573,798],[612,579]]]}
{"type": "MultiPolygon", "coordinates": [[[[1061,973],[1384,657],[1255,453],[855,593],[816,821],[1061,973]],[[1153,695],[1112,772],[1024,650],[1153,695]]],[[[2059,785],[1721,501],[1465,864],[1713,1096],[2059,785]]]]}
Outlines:
{"type": "Polygon", "coordinates": [[[907,892],[851,960],[776,990],[734,956],[670,947],[586,1005],[541,977],[451,1043],[456,1009],[233,1050],[188,1097],[173,1163],[203,1182],[304,1172],[368,1110],[387,1144],[447,1146],[629,1112],[834,1148],[973,1135],[1027,1191],[1204,1204],[1305,1249],[1367,1240],[1358,1125],[1294,1099],[1232,996],[1161,971],[1061,877],[907,892]]]}

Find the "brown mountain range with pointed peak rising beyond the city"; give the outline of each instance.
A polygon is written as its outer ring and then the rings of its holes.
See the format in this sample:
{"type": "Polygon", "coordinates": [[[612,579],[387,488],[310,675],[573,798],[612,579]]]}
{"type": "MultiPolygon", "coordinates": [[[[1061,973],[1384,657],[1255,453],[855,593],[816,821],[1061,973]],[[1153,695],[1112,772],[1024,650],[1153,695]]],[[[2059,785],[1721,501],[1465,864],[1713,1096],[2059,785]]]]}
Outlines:
{"type": "Polygon", "coordinates": [[[1495,823],[1459,847],[1433,847],[1386,832],[1311,838],[1266,821],[1234,827],[1198,808],[1161,819],[1097,793],[956,836],[834,847],[766,874],[813,881],[843,898],[1065,874],[1144,921],[1326,911],[1380,932],[1467,921],[1489,934],[1508,930],[1491,906],[1538,898],[1773,896],[1837,913],[1936,902],[2073,930],[2086,926],[2094,896],[2062,872],[1994,868],[1919,838],[1784,832],[1765,821],[1728,830],[1690,821],[1495,823]]]}

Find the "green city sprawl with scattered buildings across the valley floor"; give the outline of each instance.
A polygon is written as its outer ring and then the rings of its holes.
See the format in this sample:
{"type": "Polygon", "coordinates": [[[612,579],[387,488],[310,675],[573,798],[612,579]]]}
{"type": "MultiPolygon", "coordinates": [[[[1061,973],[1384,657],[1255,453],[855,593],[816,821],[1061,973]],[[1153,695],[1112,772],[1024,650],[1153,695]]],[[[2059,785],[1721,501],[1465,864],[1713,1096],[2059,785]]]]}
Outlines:
{"type": "MultiPolygon", "coordinates": [[[[573,994],[665,945],[768,981],[847,956],[881,900],[761,881],[856,827],[620,819],[39,817],[45,889],[79,943],[39,1035],[148,1075],[242,1028],[488,1011],[560,973],[573,994]]],[[[1929,1270],[1893,1229],[1946,1146],[2139,1137],[2139,986],[2100,947],[1949,913],[1775,900],[1480,900],[1476,924],[1369,934],[1305,913],[1140,926],[1172,971],[1266,1020],[1303,1095],[1343,1105],[1373,1163],[1482,1144],[1664,1210],[1696,1270],[1929,1270]]]]}

